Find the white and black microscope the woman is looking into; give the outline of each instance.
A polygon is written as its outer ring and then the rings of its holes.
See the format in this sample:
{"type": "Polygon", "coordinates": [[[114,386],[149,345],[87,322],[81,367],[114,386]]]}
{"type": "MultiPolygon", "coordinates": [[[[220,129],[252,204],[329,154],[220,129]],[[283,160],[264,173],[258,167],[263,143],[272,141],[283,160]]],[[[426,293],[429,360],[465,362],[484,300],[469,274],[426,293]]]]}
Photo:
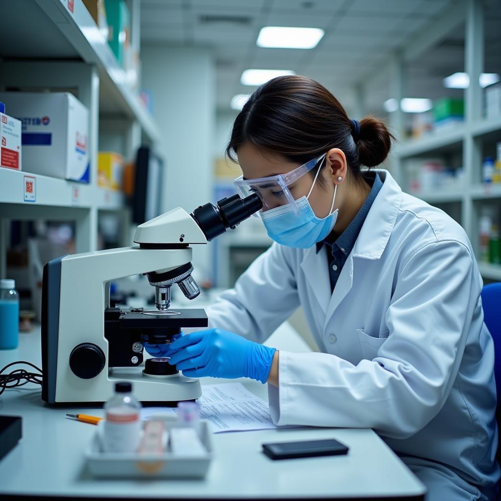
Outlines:
{"type": "Polygon", "coordinates": [[[191,273],[190,244],[234,229],[262,208],[257,194],[177,207],[140,224],[137,246],[67,255],[47,263],[42,286],[42,398],[50,404],[104,402],[117,381],[130,381],[142,402],[174,404],[201,395],[198,379],[165,358],[143,363],[143,342],[170,343],[183,328],[207,327],[203,309],[170,310],[174,284],[188,299],[200,289],[191,273]],[[146,275],[156,309],[110,307],[110,283],[146,275]]]}

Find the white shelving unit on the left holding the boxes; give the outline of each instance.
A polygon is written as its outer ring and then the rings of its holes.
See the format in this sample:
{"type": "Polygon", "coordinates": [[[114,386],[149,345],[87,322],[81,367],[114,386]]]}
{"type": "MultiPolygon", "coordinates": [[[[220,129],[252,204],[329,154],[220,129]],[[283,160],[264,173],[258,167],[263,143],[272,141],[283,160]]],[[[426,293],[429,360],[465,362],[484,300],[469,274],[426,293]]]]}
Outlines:
{"type": "MultiPolygon", "coordinates": [[[[138,49],[139,0],[127,1],[133,17],[131,26],[136,30],[132,41],[138,49]]],[[[91,162],[90,184],[31,174],[26,167],[21,172],[0,168],[0,277],[6,275],[12,219],[75,221],[76,251],[88,252],[97,249],[99,213],[113,212],[120,221],[122,244],[130,244],[124,195],[97,185],[97,152],[100,139],[109,143],[110,135],[115,134],[120,140],[114,143],[124,145],[120,153],[132,159],[141,144],[158,144],[154,120],[129,86],[128,75],[82,0],[4,2],[0,18],[0,90],[14,87],[74,92],[89,109],[91,162]],[[25,197],[25,176],[31,176],[34,196],[25,197]]]]}

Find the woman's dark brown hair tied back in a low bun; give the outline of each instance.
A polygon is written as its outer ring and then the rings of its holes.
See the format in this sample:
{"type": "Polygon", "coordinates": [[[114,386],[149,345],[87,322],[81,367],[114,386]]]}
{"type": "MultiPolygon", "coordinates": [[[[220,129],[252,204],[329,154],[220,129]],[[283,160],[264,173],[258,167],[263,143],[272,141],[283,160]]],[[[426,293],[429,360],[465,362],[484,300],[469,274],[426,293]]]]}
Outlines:
{"type": "Polygon", "coordinates": [[[340,148],[358,179],[360,166],[384,161],[394,137],[372,116],[360,121],[359,132],[354,126],[341,103],[315,80],[277,77],[261,85],[238,113],[226,155],[236,162],[238,147],[248,141],[301,164],[340,148]]]}

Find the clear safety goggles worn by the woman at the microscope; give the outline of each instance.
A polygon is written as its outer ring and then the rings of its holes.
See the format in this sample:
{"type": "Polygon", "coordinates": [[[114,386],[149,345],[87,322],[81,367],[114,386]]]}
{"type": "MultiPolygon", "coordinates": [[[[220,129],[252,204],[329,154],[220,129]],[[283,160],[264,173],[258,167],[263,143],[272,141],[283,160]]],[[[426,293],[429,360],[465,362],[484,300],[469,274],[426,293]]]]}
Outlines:
{"type": "MultiPolygon", "coordinates": [[[[263,208],[260,212],[266,212],[267,210],[290,203],[294,212],[298,214],[299,208],[296,200],[303,197],[304,193],[299,196],[296,194],[297,198],[295,198],[289,187],[306,173],[310,172],[310,170],[319,166],[325,155],[326,154],[324,153],[317,158],[313,158],[309,162],[306,162],[286,174],[259,177],[257,179],[243,179],[243,176],[238,176],[233,181],[233,184],[242,198],[245,198],[253,193],[259,195],[263,201],[263,208]]],[[[258,214],[254,215],[258,216],[258,214]]]]}

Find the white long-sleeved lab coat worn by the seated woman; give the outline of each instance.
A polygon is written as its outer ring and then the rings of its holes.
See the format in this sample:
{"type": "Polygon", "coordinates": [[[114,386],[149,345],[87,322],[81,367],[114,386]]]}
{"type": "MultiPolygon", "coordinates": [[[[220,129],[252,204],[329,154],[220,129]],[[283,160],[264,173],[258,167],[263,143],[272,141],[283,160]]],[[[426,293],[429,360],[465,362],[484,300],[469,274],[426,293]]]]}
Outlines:
{"type": "Polygon", "coordinates": [[[302,305],[323,353],[280,351],[274,422],[373,428],[409,464],[439,462],[488,492],[499,478],[494,350],[470,242],[378,172],[332,294],[325,246],[274,243],[207,310],[209,327],[263,342],[302,305]]]}

